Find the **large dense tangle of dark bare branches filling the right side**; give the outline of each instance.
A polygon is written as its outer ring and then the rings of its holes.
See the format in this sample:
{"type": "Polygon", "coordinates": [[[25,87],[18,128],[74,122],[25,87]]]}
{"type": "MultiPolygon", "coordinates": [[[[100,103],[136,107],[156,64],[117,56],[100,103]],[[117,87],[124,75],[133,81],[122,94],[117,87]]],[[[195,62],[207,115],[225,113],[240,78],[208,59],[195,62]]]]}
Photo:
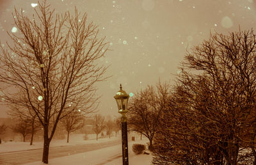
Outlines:
{"type": "Polygon", "coordinates": [[[253,30],[217,33],[188,52],[156,135],[155,164],[255,163],[255,44],[253,30]]]}

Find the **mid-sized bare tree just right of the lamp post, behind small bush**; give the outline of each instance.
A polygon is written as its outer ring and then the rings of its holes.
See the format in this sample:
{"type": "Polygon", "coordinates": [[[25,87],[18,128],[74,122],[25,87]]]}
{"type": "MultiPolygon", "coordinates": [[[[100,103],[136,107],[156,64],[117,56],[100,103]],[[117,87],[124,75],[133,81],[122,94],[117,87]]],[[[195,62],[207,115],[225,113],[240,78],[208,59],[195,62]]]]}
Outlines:
{"type": "Polygon", "coordinates": [[[150,150],[153,148],[153,139],[163,109],[168,106],[169,90],[168,83],[159,82],[156,87],[148,86],[145,90],[139,91],[129,101],[129,130],[146,136],[150,150]]]}

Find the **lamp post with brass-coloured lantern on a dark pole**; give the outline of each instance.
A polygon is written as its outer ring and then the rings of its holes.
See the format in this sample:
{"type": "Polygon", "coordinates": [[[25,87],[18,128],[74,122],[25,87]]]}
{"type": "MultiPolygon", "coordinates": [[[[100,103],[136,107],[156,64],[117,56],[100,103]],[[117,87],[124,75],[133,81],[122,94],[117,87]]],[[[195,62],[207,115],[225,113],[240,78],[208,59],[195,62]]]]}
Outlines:
{"type": "Polygon", "coordinates": [[[128,165],[128,142],[127,142],[127,117],[126,113],[128,112],[127,104],[129,95],[122,90],[122,84],[120,84],[120,90],[114,96],[116,99],[116,104],[118,107],[118,113],[122,114],[121,123],[122,123],[122,153],[123,153],[123,165],[128,165]]]}

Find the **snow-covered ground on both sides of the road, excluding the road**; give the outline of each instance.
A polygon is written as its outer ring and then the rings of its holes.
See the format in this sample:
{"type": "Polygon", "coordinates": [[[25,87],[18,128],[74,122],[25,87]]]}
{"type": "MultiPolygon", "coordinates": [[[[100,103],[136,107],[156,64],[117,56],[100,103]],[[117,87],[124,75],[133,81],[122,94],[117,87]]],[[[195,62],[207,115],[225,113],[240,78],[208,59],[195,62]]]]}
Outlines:
{"type": "MultiPolygon", "coordinates": [[[[94,135],[92,135],[94,137],[94,135]]],[[[70,137],[70,143],[67,143],[66,139],[58,140],[58,141],[52,141],[51,147],[54,146],[67,146],[67,145],[78,145],[78,144],[89,144],[89,143],[103,143],[106,141],[113,141],[116,139],[120,139],[120,136],[118,137],[111,137],[111,139],[107,138],[100,138],[98,141],[95,139],[90,139],[92,137],[89,137],[89,140],[84,141],[82,134],[74,134],[70,137]]],[[[143,164],[151,164],[152,155],[145,155],[140,154],[136,155],[132,152],[132,145],[134,143],[140,143],[140,144],[147,144],[148,140],[147,138],[143,138],[142,140],[138,140],[138,136],[136,136],[136,141],[129,141],[129,164],[134,165],[143,165],[143,164]]],[[[28,142],[6,142],[2,143],[0,145],[0,153],[3,152],[15,152],[18,150],[33,150],[36,148],[42,148],[42,142],[40,143],[34,143],[33,146],[29,146],[28,142]]],[[[148,152],[148,150],[146,151],[148,152]]],[[[150,153],[150,152],[148,152],[150,153]]],[[[27,165],[42,165],[43,163],[41,161],[38,162],[31,162],[27,165]]],[[[92,164],[92,165],[99,165],[99,164],[107,164],[107,165],[117,165],[122,164],[122,145],[121,145],[121,139],[120,139],[120,145],[110,146],[106,148],[102,148],[99,150],[93,150],[90,152],[84,152],[84,153],[77,153],[74,155],[68,155],[65,157],[58,157],[54,159],[49,159],[49,164],[92,164]]]]}

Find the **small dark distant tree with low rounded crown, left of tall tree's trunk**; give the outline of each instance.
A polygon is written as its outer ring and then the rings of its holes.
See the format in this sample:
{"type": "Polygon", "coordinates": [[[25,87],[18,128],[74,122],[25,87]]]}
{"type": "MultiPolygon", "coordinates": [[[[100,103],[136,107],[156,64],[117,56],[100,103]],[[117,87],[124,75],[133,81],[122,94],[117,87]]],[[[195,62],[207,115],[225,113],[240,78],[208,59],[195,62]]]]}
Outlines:
{"type": "Polygon", "coordinates": [[[24,142],[26,141],[26,136],[31,134],[31,125],[27,120],[20,120],[11,129],[13,132],[21,134],[24,142]]]}

